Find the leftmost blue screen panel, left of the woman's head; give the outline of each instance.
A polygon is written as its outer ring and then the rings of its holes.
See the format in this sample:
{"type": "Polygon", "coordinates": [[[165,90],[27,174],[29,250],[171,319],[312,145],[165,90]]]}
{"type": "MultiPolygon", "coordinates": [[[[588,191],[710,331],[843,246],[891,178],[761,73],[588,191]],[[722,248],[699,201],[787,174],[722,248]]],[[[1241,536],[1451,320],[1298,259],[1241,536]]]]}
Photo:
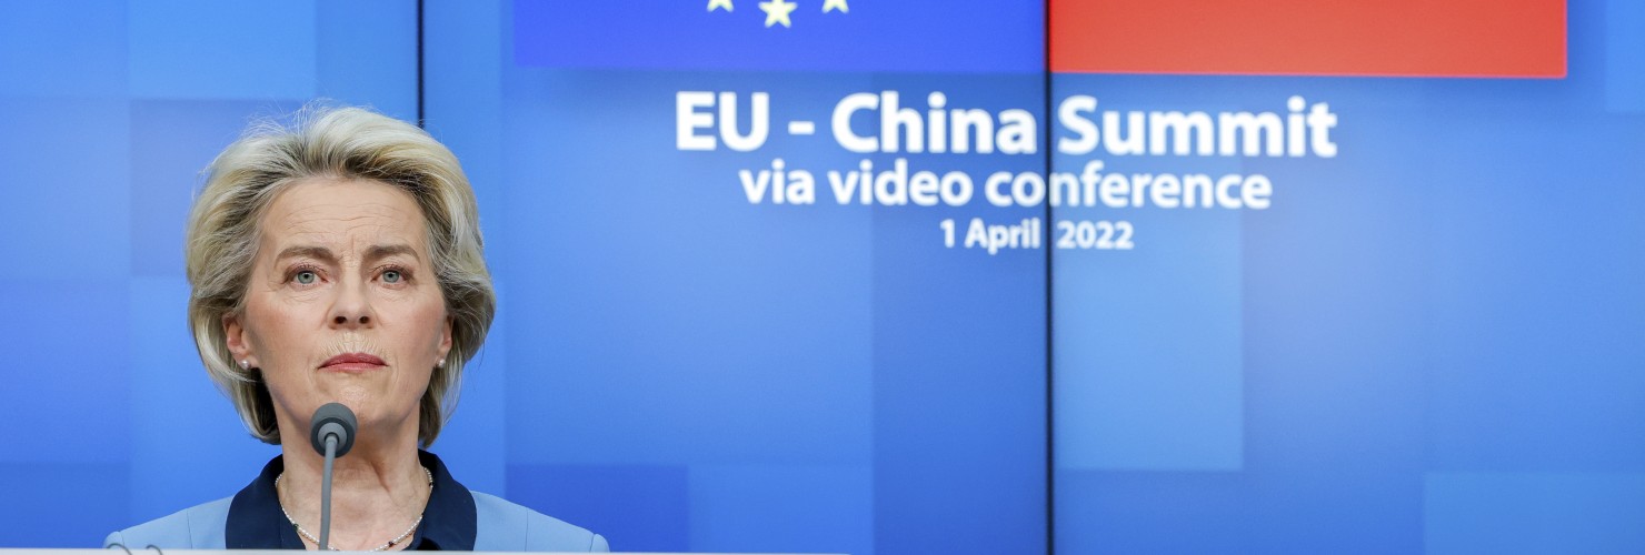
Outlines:
{"type": "Polygon", "coordinates": [[[410,2],[0,5],[0,545],[97,547],[278,453],[201,369],[184,217],[253,117],[316,95],[415,117],[415,21],[410,2]]]}

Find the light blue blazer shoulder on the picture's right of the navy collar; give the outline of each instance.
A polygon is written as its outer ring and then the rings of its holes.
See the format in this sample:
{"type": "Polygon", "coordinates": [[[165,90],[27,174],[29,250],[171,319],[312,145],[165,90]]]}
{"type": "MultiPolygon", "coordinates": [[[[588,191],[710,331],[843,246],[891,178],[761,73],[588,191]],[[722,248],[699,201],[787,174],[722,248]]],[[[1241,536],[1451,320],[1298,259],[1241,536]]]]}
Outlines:
{"type": "Polygon", "coordinates": [[[508,502],[498,496],[474,494],[475,552],[609,552],[605,537],[566,521],[508,502]]]}

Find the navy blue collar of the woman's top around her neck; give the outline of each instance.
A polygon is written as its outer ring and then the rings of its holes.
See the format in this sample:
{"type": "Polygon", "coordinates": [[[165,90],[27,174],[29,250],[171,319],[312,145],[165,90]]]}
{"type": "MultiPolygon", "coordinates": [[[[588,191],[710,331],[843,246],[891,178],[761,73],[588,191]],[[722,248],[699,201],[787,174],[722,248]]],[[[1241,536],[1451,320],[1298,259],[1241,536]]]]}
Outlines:
{"type": "MultiPolygon", "coordinates": [[[[416,456],[434,476],[434,489],[429,491],[428,506],[423,507],[423,524],[418,524],[406,550],[472,552],[477,521],[474,494],[451,478],[446,463],[434,453],[418,450],[416,456]]],[[[257,479],[234,494],[229,524],[224,529],[227,548],[308,548],[280,509],[275,478],[285,468],[285,460],[275,456],[257,479]]]]}

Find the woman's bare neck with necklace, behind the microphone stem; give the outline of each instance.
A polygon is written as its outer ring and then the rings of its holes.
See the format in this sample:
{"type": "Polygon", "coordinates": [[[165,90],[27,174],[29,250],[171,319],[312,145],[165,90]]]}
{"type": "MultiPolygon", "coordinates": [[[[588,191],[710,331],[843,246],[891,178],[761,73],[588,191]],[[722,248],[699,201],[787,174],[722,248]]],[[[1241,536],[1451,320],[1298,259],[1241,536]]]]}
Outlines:
{"type": "MultiPolygon", "coordinates": [[[[324,456],[314,452],[306,435],[281,437],[286,440],[281,443],[285,475],[280,479],[280,504],[304,530],[319,537],[324,456]]],[[[423,514],[431,488],[415,438],[382,442],[360,437],[349,455],[332,465],[331,547],[372,550],[401,535],[423,514]]],[[[395,547],[405,547],[408,540],[395,547]]],[[[313,540],[306,544],[314,547],[313,540]]]]}

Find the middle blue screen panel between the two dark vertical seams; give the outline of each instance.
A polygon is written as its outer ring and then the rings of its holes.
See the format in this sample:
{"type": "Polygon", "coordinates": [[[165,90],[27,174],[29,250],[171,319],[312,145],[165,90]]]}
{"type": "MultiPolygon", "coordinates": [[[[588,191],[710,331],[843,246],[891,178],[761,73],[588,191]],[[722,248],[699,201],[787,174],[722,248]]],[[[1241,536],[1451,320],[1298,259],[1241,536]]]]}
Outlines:
{"type": "MultiPolygon", "coordinates": [[[[938,222],[977,209],[841,204],[826,176],[1043,167],[831,136],[862,92],[1036,107],[1043,57],[816,54],[898,51],[880,30],[910,8],[813,5],[791,28],[739,8],[431,13],[428,125],[482,184],[500,276],[510,498],[633,550],[1043,550],[1043,253],[944,250],[938,222]],[[697,115],[719,123],[683,140],[697,115]]],[[[990,10],[1038,44],[1038,13],[990,10]]]]}

